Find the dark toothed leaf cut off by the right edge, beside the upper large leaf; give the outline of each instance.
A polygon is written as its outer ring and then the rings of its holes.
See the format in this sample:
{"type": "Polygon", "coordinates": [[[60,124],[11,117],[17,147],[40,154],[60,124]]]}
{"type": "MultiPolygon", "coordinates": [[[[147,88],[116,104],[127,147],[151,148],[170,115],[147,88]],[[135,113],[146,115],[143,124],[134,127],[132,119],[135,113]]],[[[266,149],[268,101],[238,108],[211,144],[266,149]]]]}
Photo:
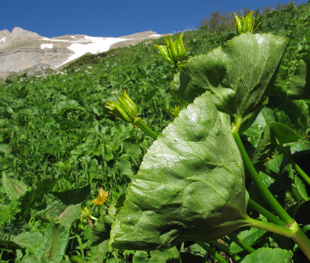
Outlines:
{"type": "Polygon", "coordinates": [[[287,98],[310,99],[310,50],[299,61],[287,85],[287,98]]]}

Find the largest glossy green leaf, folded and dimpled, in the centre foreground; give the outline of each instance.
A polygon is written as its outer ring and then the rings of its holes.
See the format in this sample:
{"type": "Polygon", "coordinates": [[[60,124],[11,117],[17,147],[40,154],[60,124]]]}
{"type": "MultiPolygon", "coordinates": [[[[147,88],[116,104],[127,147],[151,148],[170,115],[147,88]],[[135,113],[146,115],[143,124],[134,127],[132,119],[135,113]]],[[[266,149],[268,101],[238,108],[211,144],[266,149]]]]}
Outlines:
{"type": "Polygon", "coordinates": [[[111,230],[112,248],[155,250],[213,240],[242,225],[240,152],[210,92],[183,109],[148,150],[111,230]]]}

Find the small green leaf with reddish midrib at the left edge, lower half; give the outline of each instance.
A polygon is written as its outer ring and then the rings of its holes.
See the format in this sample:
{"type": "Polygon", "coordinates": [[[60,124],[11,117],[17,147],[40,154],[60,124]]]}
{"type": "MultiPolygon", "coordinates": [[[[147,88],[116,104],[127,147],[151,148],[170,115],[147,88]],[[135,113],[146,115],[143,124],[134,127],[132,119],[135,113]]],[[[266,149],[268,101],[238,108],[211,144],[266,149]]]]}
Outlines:
{"type": "Polygon", "coordinates": [[[27,191],[27,186],[23,182],[7,176],[7,172],[2,172],[1,182],[10,200],[19,199],[27,191]]]}

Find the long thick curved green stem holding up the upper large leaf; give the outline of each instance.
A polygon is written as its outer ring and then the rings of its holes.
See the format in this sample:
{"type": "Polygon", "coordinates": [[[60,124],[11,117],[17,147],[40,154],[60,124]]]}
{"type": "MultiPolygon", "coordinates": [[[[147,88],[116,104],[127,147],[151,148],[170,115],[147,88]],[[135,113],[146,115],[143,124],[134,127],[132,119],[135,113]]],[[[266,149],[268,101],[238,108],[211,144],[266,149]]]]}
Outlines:
{"type": "Polygon", "coordinates": [[[289,216],[288,213],[284,210],[284,208],[279,204],[277,199],[270,193],[268,190],[267,186],[263,183],[262,179],[259,177],[258,173],[256,172],[247,152],[246,149],[244,148],[239,133],[237,126],[232,128],[232,134],[233,137],[235,138],[235,141],[237,143],[237,146],[239,148],[239,151],[242,156],[243,164],[248,170],[250,177],[252,179],[252,182],[255,184],[257,187],[259,193],[263,196],[263,198],[266,200],[266,202],[270,205],[272,210],[277,214],[277,216],[282,219],[286,224],[290,224],[293,219],[289,216]]]}

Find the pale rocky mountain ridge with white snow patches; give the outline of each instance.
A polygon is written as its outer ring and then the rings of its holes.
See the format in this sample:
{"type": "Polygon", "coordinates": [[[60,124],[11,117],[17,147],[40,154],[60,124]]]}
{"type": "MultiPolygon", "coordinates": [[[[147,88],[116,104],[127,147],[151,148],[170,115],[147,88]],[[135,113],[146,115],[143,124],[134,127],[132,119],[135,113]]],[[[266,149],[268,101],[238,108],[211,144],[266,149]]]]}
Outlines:
{"type": "Polygon", "coordinates": [[[0,31],[0,77],[20,74],[29,68],[43,71],[50,66],[57,70],[86,53],[96,54],[161,36],[145,31],[123,37],[65,35],[47,38],[19,27],[12,32],[4,29],[0,31]]]}

